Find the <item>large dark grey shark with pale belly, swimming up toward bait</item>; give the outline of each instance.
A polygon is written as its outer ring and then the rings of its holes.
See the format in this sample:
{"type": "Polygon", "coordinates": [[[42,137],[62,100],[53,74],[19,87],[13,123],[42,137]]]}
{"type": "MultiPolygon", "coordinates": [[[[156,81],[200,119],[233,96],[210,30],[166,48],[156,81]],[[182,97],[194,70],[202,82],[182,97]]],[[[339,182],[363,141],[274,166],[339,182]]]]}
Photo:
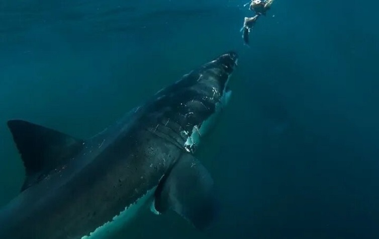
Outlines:
{"type": "Polygon", "coordinates": [[[230,51],[185,74],[87,140],[10,120],[26,179],[0,211],[0,238],[112,238],[148,206],[206,229],[217,197],[194,153],[227,103],[237,58],[230,51]]]}

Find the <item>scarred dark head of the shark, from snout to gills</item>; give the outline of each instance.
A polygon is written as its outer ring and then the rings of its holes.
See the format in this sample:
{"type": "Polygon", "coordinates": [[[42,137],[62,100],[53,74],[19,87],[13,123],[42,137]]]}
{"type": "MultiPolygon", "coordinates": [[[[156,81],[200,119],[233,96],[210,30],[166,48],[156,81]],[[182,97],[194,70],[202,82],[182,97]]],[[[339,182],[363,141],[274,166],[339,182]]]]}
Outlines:
{"type": "Polygon", "coordinates": [[[228,83],[237,61],[237,53],[226,52],[156,94],[159,108],[165,109],[160,111],[161,123],[179,134],[186,151],[195,151],[227,105],[232,93],[228,83]]]}

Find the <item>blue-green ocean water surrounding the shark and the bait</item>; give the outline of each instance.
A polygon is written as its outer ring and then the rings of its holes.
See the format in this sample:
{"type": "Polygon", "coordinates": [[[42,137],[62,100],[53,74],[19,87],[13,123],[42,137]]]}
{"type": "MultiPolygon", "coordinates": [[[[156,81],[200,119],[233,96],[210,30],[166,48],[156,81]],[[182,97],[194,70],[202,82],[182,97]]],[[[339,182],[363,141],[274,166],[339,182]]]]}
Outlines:
{"type": "Polygon", "coordinates": [[[219,220],[203,234],[146,212],[118,238],[379,238],[375,6],[275,0],[247,48],[246,2],[0,0],[0,205],[24,180],[8,119],[90,137],[233,49],[232,100],[198,154],[219,220]]]}

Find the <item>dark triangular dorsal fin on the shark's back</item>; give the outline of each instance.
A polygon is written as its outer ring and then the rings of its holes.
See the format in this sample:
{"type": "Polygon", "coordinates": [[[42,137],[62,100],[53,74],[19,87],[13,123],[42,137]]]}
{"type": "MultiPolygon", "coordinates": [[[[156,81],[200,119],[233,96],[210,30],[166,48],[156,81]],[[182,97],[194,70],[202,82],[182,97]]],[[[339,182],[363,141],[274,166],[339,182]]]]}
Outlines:
{"type": "Polygon", "coordinates": [[[82,148],[84,142],[24,120],[10,120],[8,127],[26,170],[26,179],[21,191],[37,183],[42,174],[63,165],[82,148]]]}

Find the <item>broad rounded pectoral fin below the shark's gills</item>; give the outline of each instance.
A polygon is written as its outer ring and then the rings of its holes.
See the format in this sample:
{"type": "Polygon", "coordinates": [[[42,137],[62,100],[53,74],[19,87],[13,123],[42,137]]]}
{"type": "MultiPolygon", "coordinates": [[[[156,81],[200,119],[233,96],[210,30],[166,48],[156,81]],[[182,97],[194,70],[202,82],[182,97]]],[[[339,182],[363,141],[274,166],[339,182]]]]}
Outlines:
{"type": "Polygon", "coordinates": [[[184,154],[158,186],[155,209],[171,209],[200,230],[206,229],[218,211],[214,182],[208,170],[191,154],[184,154]]]}

